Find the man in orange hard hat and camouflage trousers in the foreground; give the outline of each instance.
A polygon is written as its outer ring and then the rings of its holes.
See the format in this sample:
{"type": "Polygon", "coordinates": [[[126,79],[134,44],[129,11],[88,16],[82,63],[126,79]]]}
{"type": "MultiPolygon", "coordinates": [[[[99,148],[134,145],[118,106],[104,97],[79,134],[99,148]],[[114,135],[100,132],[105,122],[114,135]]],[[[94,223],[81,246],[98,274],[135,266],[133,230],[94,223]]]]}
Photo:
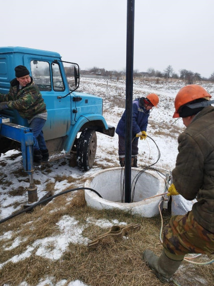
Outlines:
{"type": "Polygon", "coordinates": [[[214,254],[214,107],[206,90],[196,84],[175,97],[173,117],[186,129],[178,137],[178,155],[168,195],[196,198],[192,210],[172,216],[163,231],[160,257],[146,249],[143,259],[162,282],[168,282],[187,253],[214,254]],[[178,193],[179,192],[179,193],[178,193]]]}

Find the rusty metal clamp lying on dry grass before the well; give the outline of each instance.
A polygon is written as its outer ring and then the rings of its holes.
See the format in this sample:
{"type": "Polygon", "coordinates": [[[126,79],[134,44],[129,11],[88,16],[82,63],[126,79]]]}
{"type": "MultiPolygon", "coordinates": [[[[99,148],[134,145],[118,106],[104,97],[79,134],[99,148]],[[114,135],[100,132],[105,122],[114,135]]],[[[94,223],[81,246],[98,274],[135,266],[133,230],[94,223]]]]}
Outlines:
{"type": "Polygon", "coordinates": [[[102,234],[102,235],[98,235],[97,239],[92,240],[91,242],[88,242],[88,248],[90,250],[94,250],[97,245],[99,244],[100,240],[103,239],[106,236],[113,236],[113,237],[117,237],[117,238],[121,238],[124,235],[126,235],[128,233],[128,231],[133,230],[139,230],[140,229],[140,224],[129,224],[126,226],[119,226],[119,225],[114,225],[111,227],[111,229],[109,231],[107,231],[106,233],[102,234]]]}

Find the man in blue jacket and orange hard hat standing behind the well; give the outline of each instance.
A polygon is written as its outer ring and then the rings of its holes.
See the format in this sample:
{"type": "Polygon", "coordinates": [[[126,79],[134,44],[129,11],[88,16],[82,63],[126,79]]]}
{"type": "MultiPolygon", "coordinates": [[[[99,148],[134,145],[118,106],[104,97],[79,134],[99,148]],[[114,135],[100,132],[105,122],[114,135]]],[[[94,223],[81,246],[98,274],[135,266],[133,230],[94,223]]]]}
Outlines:
{"type": "MultiPolygon", "coordinates": [[[[150,93],[147,97],[137,98],[132,103],[132,159],[131,166],[137,167],[138,139],[145,139],[150,109],[157,107],[159,97],[150,93]]],[[[120,166],[125,166],[125,118],[126,110],[119,120],[116,128],[118,134],[118,154],[120,166]]]]}

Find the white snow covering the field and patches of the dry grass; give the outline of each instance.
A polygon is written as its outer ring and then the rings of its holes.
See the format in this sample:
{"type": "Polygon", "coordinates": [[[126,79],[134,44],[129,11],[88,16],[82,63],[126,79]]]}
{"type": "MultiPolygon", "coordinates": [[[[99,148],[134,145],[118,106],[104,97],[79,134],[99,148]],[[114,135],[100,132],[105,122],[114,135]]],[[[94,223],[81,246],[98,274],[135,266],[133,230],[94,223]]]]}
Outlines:
{"type": "MultiPolygon", "coordinates": [[[[214,84],[201,84],[211,95],[214,96],[214,84]]],[[[172,118],[174,112],[174,98],[180,88],[185,85],[183,81],[159,80],[135,80],[133,86],[133,99],[145,96],[148,93],[156,93],[160,98],[159,108],[153,108],[149,117],[147,134],[152,137],[160,150],[160,159],[154,167],[166,171],[172,171],[177,156],[177,136],[182,132],[184,126],[182,119],[172,118]]],[[[125,106],[125,81],[81,78],[78,91],[95,94],[103,98],[103,115],[109,125],[117,126],[117,123],[124,111],[125,106]]],[[[95,164],[88,172],[82,172],[77,167],[69,167],[69,158],[61,159],[49,164],[49,168],[37,168],[34,173],[34,180],[38,187],[38,194],[44,192],[47,186],[52,186],[52,194],[57,194],[69,188],[83,187],[84,181],[105,168],[119,167],[118,161],[118,136],[108,137],[97,133],[97,155],[95,164]],[[64,176],[65,179],[59,180],[64,176]],[[73,180],[68,180],[73,178],[73,180]],[[75,182],[75,183],[74,183],[75,182]]],[[[158,150],[154,142],[147,138],[139,140],[138,166],[152,165],[157,161],[158,150]]],[[[27,203],[28,196],[26,188],[29,186],[29,179],[22,172],[22,157],[18,151],[9,151],[0,158],[0,219],[4,219],[15,211],[23,208],[27,203]]],[[[9,222],[6,222],[10,223],[9,222]]],[[[88,223],[91,223],[90,218],[88,223]]],[[[97,220],[94,224],[102,227],[111,227],[117,224],[117,220],[97,220]]],[[[31,224],[33,225],[33,223],[31,224]]],[[[44,239],[35,239],[35,242],[26,247],[26,251],[11,257],[0,263],[0,269],[9,262],[18,262],[32,253],[48,259],[60,259],[66,251],[69,243],[86,245],[88,239],[82,236],[83,229],[78,226],[77,221],[70,216],[64,216],[58,222],[59,234],[57,237],[49,236],[44,239]],[[75,230],[75,231],[74,231],[75,230]],[[53,242],[54,249],[48,250],[47,245],[53,242]]],[[[21,227],[21,226],[20,226],[21,227]]],[[[2,230],[0,240],[3,241],[2,248],[12,250],[19,247],[24,241],[17,233],[14,242],[8,246],[7,241],[12,237],[12,233],[2,230]]],[[[26,237],[27,240],[27,237],[26,237]]],[[[0,277],[1,281],[1,277],[0,277]]],[[[5,284],[6,285],[6,284],[5,284]]],[[[9,284],[7,284],[9,285],[9,284]]],[[[29,286],[25,281],[19,284],[29,286]]],[[[44,278],[38,285],[54,285],[52,278],[44,278]]],[[[69,284],[66,279],[59,281],[61,285],[84,285],[81,281],[73,281],[69,284]]]]}

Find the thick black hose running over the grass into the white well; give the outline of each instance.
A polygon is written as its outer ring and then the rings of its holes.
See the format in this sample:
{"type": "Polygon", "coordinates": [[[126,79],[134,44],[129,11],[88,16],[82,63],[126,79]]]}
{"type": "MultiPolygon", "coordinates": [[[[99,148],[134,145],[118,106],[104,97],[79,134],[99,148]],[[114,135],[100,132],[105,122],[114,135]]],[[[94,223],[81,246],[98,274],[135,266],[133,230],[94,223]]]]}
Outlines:
{"type": "Polygon", "coordinates": [[[34,207],[36,207],[38,205],[41,205],[41,204],[43,204],[45,202],[48,202],[48,201],[50,201],[50,200],[52,200],[52,199],[54,199],[56,197],[59,197],[61,195],[64,195],[64,194],[67,194],[67,193],[70,193],[70,192],[73,192],[73,191],[78,191],[78,190],[90,190],[90,191],[96,193],[100,198],[102,198],[102,196],[97,191],[95,191],[94,189],[91,189],[91,188],[84,188],[84,187],[81,188],[80,187],[80,188],[70,189],[70,190],[64,191],[62,193],[56,194],[54,196],[48,197],[47,199],[45,199],[43,201],[39,201],[39,202],[33,204],[32,206],[30,206],[30,207],[28,207],[28,208],[26,208],[26,209],[24,209],[22,211],[19,211],[18,213],[15,213],[15,214],[13,214],[11,216],[8,216],[8,217],[0,220],[0,224],[5,222],[5,221],[7,221],[7,220],[9,220],[9,219],[11,219],[11,218],[13,218],[13,217],[15,217],[15,216],[18,216],[18,215],[20,215],[20,214],[22,214],[24,212],[28,212],[28,211],[32,210],[34,207]]]}

